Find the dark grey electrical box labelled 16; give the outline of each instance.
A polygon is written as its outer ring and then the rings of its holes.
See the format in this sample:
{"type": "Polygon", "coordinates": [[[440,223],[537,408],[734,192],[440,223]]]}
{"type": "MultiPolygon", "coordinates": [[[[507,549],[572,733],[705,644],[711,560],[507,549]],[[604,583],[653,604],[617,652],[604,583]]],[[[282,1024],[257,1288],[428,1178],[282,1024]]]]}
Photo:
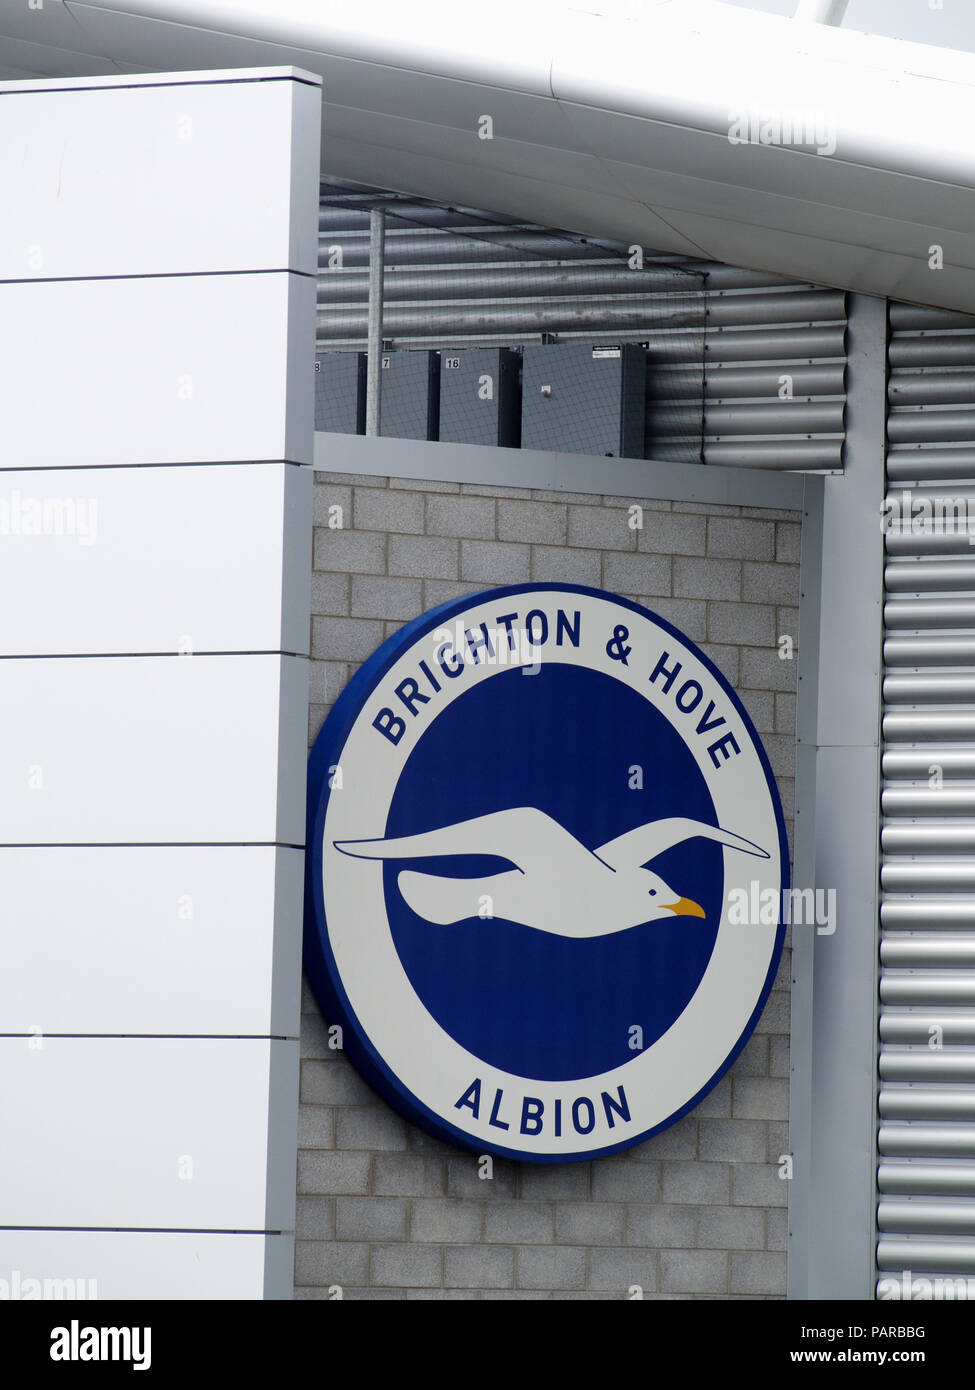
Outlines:
{"type": "Polygon", "coordinates": [[[442,349],[440,438],[517,449],[522,356],[510,348],[442,349]]]}

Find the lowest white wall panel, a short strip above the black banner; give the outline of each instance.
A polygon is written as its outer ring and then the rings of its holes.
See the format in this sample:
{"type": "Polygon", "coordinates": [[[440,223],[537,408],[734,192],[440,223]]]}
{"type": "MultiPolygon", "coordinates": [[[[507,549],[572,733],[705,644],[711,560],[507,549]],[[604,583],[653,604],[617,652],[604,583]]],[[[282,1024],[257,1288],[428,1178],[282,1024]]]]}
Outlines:
{"type": "MultiPolygon", "coordinates": [[[[50,1300],[263,1298],[268,1287],[280,1297],[293,1248],[291,1234],[0,1230],[0,1301],[36,1297],[28,1280],[40,1280],[39,1297],[50,1300]]],[[[83,1304],[70,1316],[86,1322],[83,1304]]]]}

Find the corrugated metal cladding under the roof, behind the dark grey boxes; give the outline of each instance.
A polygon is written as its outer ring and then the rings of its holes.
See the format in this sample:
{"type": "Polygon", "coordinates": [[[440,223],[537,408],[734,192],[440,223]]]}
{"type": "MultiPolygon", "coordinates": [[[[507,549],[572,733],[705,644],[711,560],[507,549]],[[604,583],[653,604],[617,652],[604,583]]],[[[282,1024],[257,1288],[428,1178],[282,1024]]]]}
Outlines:
{"type": "Polygon", "coordinates": [[[377,204],[392,346],[645,342],[645,457],[841,467],[846,296],[712,261],[323,185],[319,352],[366,346],[377,204]]]}

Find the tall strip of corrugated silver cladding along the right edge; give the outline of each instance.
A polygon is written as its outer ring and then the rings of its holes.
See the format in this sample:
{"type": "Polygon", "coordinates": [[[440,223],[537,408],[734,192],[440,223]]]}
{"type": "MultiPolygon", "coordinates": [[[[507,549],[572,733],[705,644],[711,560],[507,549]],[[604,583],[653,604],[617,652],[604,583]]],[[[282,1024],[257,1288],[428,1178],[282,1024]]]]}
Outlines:
{"type": "Polygon", "coordinates": [[[892,306],[887,434],[878,1261],[975,1279],[975,318],[892,306]]]}

